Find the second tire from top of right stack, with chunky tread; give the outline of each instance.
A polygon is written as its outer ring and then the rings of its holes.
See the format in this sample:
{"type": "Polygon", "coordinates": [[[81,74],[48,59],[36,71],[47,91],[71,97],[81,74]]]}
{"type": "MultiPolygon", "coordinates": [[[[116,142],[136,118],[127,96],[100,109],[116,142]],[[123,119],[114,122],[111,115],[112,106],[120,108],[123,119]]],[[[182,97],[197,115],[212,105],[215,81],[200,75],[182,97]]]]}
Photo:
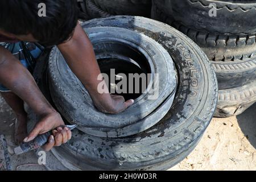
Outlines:
{"type": "MultiPolygon", "coordinates": [[[[194,40],[203,49],[209,60],[234,61],[255,56],[255,34],[226,35],[216,34],[210,31],[203,32],[194,27],[188,27],[184,22],[174,19],[174,16],[163,13],[162,7],[156,2],[158,1],[153,3],[151,17],[160,22],[170,24],[172,27],[189,36],[189,38],[194,40]]],[[[191,21],[195,22],[195,20],[191,21]]],[[[226,28],[223,29],[226,30],[226,28]]]]}

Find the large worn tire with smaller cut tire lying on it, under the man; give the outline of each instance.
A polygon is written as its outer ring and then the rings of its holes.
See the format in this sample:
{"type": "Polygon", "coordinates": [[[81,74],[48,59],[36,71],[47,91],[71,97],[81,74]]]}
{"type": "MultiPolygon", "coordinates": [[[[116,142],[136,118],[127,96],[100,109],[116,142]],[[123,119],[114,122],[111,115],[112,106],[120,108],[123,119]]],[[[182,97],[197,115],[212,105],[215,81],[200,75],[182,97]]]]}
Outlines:
{"type": "MultiPolygon", "coordinates": [[[[159,98],[152,102],[146,94],[124,113],[100,113],[53,48],[48,64],[39,61],[35,80],[65,122],[79,127],[68,143],[48,153],[47,167],[164,170],[179,163],[200,141],[217,105],[217,78],[205,53],[175,28],[139,16],[93,19],[82,27],[100,66],[110,57],[117,59],[111,65],[121,66],[123,59],[159,73],[159,98]]],[[[30,131],[38,118],[31,110],[28,116],[30,131]]]]}

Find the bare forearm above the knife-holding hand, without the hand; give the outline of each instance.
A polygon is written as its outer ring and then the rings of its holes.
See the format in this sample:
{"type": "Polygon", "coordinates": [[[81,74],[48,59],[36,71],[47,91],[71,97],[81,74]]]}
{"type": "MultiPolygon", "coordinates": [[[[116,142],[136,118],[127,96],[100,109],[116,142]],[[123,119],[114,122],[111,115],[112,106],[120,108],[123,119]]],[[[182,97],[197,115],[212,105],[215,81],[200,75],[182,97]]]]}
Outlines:
{"type": "Polygon", "coordinates": [[[55,111],[40,92],[30,72],[2,46],[0,55],[0,82],[30,105],[36,114],[55,111]]]}

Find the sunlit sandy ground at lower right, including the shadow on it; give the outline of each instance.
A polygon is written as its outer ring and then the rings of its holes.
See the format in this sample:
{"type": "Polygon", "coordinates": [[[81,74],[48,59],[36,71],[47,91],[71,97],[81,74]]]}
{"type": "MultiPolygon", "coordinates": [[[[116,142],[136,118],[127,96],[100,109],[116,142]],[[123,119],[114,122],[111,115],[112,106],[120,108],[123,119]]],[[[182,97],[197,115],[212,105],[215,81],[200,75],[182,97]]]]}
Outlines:
{"type": "Polygon", "coordinates": [[[256,170],[256,104],[237,117],[213,118],[195,150],[170,170],[256,170]]]}

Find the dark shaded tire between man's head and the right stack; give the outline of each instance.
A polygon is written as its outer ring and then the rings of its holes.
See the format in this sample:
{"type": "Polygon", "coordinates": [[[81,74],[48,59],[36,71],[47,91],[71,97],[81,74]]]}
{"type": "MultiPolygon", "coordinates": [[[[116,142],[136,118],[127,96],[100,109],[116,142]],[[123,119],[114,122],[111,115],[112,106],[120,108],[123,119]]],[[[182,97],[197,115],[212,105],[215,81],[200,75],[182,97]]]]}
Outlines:
{"type": "Polygon", "coordinates": [[[151,0],[78,0],[90,19],[113,15],[151,16],[151,0]]]}

